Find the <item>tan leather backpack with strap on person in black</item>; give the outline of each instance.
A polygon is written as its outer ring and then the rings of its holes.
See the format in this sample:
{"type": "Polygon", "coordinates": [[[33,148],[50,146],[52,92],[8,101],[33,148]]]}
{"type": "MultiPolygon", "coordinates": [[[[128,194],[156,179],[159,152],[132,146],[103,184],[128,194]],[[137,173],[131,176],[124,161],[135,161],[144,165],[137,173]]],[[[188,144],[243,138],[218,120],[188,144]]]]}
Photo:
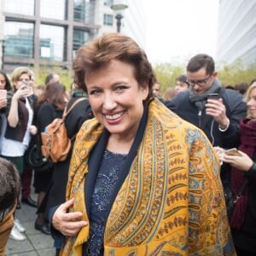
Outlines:
{"type": "Polygon", "coordinates": [[[65,119],[68,113],[79,103],[86,98],[79,98],[73,105],[68,109],[65,108],[62,117],[54,119],[49,125],[46,126],[45,131],[41,132],[42,154],[55,163],[58,161],[64,161],[67,159],[67,155],[71,148],[71,140],[67,137],[67,128],[65,125],[65,119]]]}

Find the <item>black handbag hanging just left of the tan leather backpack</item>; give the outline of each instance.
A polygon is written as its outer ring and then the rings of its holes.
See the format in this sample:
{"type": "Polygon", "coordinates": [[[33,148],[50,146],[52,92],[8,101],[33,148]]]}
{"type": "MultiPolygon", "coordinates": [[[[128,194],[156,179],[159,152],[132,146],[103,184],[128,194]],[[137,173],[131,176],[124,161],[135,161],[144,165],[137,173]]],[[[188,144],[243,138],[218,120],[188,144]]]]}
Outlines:
{"type": "Polygon", "coordinates": [[[49,172],[53,164],[41,152],[41,142],[38,135],[33,137],[30,147],[26,150],[26,163],[35,172],[49,172]]]}

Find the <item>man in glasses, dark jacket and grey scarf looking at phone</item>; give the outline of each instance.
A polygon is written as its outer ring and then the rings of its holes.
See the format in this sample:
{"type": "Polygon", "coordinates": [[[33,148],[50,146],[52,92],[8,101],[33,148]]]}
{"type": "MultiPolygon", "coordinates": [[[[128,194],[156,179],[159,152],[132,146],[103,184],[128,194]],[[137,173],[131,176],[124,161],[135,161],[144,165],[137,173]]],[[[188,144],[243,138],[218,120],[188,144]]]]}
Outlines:
{"type": "Polygon", "coordinates": [[[187,66],[189,90],[181,92],[166,107],[203,130],[213,146],[237,147],[239,121],[247,114],[242,96],[225,90],[217,79],[214,61],[209,55],[195,55],[187,66]],[[210,99],[209,94],[218,94],[210,99]]]}

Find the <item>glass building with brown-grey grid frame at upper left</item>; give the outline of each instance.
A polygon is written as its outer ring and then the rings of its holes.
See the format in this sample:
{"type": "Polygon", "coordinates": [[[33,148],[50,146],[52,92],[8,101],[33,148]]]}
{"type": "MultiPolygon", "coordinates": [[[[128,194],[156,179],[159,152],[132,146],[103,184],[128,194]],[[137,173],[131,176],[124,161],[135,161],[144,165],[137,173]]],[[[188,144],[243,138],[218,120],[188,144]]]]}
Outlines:
{"type": "Polygon", "coordinates": [[[2,0],[3,68],[69,67],[79,46],[94,38],[96,1],[2,0]]]}

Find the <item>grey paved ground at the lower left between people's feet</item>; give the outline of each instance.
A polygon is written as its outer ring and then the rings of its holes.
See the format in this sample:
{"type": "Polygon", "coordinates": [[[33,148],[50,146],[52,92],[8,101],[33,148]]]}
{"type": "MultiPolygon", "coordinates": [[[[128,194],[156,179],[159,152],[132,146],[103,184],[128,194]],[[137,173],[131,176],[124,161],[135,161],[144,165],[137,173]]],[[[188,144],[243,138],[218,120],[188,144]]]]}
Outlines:
{"type": "MultiPolygon", "coordinates": [[[[32,195],[36,200],[37,195],[32,195]]],[[[51,236],[44,235],[41,231],[35,230],[36,208],[29,207],[21,203],[21,209],[16,210],[16,217],[26,228],[26,240],[15,241],[9,239],[6,248],[6,255],[18,256],[55,256],[53,239],[51,236]]]]}

